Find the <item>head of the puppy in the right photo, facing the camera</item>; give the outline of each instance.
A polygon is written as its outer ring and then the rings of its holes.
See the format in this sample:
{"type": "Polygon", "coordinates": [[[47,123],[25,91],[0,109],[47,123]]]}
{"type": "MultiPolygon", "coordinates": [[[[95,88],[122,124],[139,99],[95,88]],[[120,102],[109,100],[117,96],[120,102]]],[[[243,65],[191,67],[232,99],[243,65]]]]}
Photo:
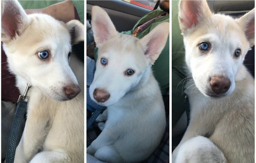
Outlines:
{"type": "Polygon", "coordinates": [[[254,9],[233,19],[212,14],[206,1],[180,1],[179,23],[196,87],[207,97],[231,94],[237,72],[254,45],[254,9]]]}

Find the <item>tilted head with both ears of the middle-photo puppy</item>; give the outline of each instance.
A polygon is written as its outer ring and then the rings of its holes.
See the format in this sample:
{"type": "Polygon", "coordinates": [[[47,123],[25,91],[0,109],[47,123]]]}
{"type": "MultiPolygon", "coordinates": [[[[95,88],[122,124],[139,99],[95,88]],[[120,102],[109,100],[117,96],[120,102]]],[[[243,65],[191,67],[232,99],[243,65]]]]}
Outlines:
{"type": "Polygon", "coordinates": [[[119,34],[107,13],[94,6],[92,27],[99,51],[89,93],[96,103],[110,106],[147,82],[150,67],[167,41],[169,23],[158,25],[139,40],[119,34]]]}

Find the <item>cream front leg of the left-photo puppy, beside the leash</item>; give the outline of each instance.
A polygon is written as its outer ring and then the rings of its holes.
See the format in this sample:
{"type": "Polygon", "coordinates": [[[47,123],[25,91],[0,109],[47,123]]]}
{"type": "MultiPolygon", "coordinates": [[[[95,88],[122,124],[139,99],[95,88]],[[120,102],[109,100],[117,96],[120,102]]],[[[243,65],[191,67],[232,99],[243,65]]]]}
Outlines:
{"type": "Polygon", "coordinates": [[[14,163],[29,162],[42,147],[47,131],[49,130],[48,116],[42,113],[43,111],[40,116],[38,116],[40,114],[39,110],[30,111],[21,141],[16,148],[14,163]]]}

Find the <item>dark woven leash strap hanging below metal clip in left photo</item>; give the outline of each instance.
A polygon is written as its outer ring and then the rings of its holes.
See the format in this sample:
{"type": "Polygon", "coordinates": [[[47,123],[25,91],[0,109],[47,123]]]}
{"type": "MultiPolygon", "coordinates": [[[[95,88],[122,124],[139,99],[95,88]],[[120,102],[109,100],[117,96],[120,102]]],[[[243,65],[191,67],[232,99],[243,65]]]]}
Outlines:
{"type": "Polygon", "coordinates": [[[5,159],[6,163],[14,162],[14,157],[15,157],[15,152],[17,147],[17,139],[21,130],[21,124],[22,124],[22,120],[24,118],[26,109],[27,109],[27,102],[21,100],[17,105],[14,120],[11,126],[11,132],[8,140],[6,159],[5,159]]]}

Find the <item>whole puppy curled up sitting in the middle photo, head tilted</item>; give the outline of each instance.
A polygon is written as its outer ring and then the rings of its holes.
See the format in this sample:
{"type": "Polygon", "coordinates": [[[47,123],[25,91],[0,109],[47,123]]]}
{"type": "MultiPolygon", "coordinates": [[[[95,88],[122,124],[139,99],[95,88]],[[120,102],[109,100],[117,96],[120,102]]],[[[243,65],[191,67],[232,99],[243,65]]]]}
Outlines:
{"type": "Polygon", "coordinates": [[[92,27],[99,53],[89,93],[107,109],[96,119],[103,131],[87,153],[106,162],[142,161],[157,148],[166,126],[151,65],[165,46],[169,23],[139,40],[118,33],[107,13],[94,6],[92,27]]]}

